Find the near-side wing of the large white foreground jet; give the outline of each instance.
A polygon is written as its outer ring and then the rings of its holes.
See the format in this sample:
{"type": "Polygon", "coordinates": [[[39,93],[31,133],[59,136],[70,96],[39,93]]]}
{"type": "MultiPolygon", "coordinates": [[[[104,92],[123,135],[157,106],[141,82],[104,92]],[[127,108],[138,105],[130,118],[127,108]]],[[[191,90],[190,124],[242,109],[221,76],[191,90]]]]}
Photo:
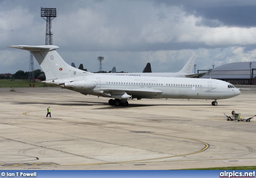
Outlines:
{"type": "Polygon", "coordinates": [[[109,93],[110,95],[120,95],[121,93],[126,93],[127,95],[131,95],[132,97],[136,98],[143,98],[143,97],[154,97],[156,95],[162,94],[162,91],[155,90],[155,89],[96,89],[102,90],[104,93],[109,93]]]}

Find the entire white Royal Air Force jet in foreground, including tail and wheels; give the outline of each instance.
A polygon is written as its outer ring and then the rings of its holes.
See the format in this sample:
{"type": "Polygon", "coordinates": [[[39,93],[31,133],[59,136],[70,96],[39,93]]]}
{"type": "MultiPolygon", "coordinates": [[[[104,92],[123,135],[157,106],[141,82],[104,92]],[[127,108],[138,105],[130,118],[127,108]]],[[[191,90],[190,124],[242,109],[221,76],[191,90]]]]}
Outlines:
{"type": "Polygon", "coordinates": [[[127,106],[129,98],[217,99],[232,98],[240,94],[234,85],[217,79],[176,77],[137,77],[96,75],[68,65],[58,54],[55,45],[15,45],[12,48],[32,51],[42,67],[45,83],[80,92],[83,95],[110,97],[108,103],[127,106]]]}

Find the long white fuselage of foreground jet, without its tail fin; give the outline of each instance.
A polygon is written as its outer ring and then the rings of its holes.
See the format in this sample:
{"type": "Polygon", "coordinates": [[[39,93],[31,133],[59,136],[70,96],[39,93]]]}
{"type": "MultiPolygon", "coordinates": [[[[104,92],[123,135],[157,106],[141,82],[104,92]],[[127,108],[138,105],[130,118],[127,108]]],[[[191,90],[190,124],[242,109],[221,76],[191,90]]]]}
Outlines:
{"type": "Polygon", "coordinates": [[[151,99],[227,99],[240,94],[239,89],[228,87],[230,83],[216,79],[87,75],[84,77],[72,77],[72,79],[50,80],[46,81],[46,83],[61,86],[82,94],[103,97],[111,97],[111,92],[108,92],[110,95],[104,95],[104,91],[114,91],[117,88],[126,91],[132,98],[151,99]],[[87,82],[84,82],[84,80],[87,82]],[[71,85],[70,81],[72,81],[71,85]],[[64,85],[60,85],[62,83],[64,85]],[[76,85],[76,83],[80,84],[76,85]],[[84,83],[84,86],[81,86],[83,85],[81,83],[84,83]],[[136,94],[133,90],[156,90],[159,92],[153,93],[152,96],[148,93],[143,96],[139,92],[139,94],[136,94]]]}

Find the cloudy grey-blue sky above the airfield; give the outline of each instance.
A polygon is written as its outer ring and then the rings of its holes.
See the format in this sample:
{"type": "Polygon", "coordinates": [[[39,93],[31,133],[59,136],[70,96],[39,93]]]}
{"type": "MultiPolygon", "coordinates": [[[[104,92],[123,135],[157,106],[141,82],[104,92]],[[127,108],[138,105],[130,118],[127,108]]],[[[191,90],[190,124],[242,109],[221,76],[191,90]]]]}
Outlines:
{"type": "Polygon", "coordinates": [[[9,45],[45,45],[41,7],[57,9],[58,53],[91,72],[98,56],[126,72],[176,72],[191,56],[196,70],[256,61],[255,0],[0,0],[0,73],[29,70],[29,52],[9,45]]]}

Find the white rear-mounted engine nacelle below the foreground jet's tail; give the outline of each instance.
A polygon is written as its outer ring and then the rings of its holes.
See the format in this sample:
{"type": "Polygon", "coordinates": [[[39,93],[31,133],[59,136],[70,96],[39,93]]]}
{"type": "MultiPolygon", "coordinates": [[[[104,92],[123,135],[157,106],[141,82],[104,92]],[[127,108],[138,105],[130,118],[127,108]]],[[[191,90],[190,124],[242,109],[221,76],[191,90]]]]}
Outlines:
{"type": "Polygon", "coordinates": [[[96,87],[96,81],[94,80],[74,80],[70,82],[66,82],[65,88],[72,89],[91,89],[96,87]]]}

